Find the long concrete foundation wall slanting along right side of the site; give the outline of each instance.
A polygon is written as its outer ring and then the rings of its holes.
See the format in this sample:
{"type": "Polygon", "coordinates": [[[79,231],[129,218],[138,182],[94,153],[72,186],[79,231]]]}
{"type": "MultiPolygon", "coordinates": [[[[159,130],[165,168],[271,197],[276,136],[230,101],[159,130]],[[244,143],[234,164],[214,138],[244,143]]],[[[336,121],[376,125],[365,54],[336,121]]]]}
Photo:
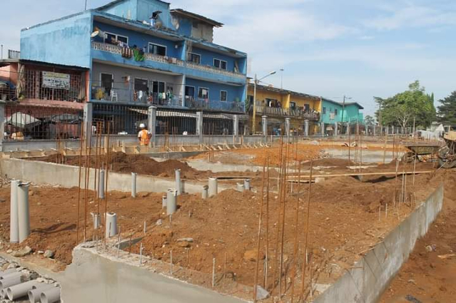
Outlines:
{"type": "Polygon", "coordinates": [[[443,185],[313,302],[377,302],[407,261],[417,239],[426,234],[442,210],[442,204],[443,185]]]}

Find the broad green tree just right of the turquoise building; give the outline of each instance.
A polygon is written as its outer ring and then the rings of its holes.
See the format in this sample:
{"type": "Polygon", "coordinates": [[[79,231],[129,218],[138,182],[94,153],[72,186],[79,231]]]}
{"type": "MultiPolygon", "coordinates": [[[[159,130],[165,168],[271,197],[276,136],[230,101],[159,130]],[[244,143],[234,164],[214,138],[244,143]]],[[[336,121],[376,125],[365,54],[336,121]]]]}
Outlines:
{"type": "Polygon", "coordinates": [[[374,97],[379,105],[375,113],[380,125],[394,125],[406,128],[413,120],[422,128],[435,119],[434,94],[427,95],[420,81],[410,83],[409,89],[390,98],[374,97]]]}

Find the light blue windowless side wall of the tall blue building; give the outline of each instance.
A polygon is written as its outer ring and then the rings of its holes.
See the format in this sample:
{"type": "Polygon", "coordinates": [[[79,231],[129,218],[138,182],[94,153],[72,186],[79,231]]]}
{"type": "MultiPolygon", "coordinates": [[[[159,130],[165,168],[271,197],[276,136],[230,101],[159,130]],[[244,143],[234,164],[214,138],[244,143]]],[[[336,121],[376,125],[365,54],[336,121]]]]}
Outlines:
{"type": "Polygon", "coordinates": [[[21,31],[21,59],[91,66],[91,11],[21,31]]]}

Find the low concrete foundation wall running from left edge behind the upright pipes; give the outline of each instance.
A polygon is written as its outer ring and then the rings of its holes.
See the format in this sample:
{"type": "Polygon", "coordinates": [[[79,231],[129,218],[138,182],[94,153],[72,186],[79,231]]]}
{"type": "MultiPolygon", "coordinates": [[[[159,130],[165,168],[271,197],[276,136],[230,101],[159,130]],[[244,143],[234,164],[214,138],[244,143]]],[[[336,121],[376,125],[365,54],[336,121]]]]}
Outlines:
{"type": "MultiPolygon", "coordinates": [[[[81,180],[85,172],[81,170],[81,180]]],[[[0,173],[4,177],[30,181],[36,184],[59,185],[64,188],[78,186],[79,169],[76,166],[30,161],[21,159],[1,159],[0,173]]],[[[90,170],[89,183],[93,185],[94,170],[90,170]]],[[[207,182],[182,181],[183,191],[188,193],[201,192],[207,182]]],[[[83,181],[82,181],[83,186],[83,181]]],[[[174,188],[174,179],[158,178],[150,175],[138,175],[136,178],[137,192],[166,192],[174,188]]],[[[231,188],[219,183],[218,190],[231,188]]],[[[131,174],[110,172],[108,177],[108,190],[131,192],[131,174]]]]}

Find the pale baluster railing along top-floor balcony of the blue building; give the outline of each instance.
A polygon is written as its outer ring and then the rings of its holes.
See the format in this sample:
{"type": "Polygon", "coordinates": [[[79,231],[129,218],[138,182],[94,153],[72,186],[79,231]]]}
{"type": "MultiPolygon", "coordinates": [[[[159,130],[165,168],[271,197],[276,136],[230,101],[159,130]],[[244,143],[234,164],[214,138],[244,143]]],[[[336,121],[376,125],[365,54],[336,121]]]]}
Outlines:
{"type": "MultiPolygon", "coordinates": [[[[122,55],[123,51],[123,48],[121,48],[121,46],[101,42],[92,42],[92,48],[97,51],[107,51],[108,53],[116,53],[118,55],[122,55]]],[[[245,78],[245,75],[243,73],[235,73],[234,71],[226,71],[224,69],[216,68],[213,66],[205,66],[198,63],[182,61],[178,58],[160,56],[153,53],[144,53],[144,58],[148,61],[175,64],[176,66],[186,66],[188,68],[196,69],[199,71],[206,71],[208,73],[217,73],[237,78],[245,78]]]]}

